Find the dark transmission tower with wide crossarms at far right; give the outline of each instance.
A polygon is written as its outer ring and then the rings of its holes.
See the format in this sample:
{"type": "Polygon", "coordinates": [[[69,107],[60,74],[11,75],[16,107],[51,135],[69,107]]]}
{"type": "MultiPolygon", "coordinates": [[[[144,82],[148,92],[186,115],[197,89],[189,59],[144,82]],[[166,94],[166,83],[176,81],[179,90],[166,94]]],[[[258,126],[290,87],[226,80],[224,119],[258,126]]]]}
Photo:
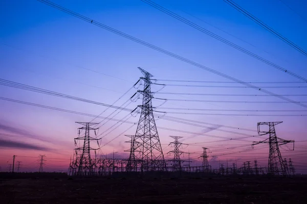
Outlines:
{"type": "Polygon", "coordinates": [[[279,146],[283,144],[287,144],[293,142],[293,150],[294,150],[294,140],[284,140],[278,138],[275,132],[275,125],[280,124],[281,122],[258,122],[257,129],[258,134],[267,135],[269,134],[269,138],[259,142],[253,142],[252,145],[256,145],[259,143],[269,143],[270,153],[269,153],[269,162],[268,162],[268,174],[270,175],[287,175],[286,168],[284,167],[284,163],[279,151],[279,146]],[[260,125],[268,125],[268,131],[260,131],[260,125]]]}

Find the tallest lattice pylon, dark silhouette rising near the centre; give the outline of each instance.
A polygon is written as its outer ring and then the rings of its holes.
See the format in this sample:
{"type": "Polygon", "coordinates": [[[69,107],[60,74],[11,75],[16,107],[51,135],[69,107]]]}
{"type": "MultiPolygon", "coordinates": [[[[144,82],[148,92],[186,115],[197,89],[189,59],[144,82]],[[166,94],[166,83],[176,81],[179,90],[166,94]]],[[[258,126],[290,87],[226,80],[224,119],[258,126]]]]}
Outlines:
{"type": "MultiPolygon", "coordinates": [[[[153,95],[150,89],[150,78],[153,75],[140,67],[138,68],[144,74],[144,77],[141,78],[144,81],[144,89],[138,91],[143,95],[143,103],[139,106],[142,110],[128,164],[132,165],[133,160],[137,161],[141,172],[167,171],[155,118],[152,113],[151,99],[153,95]]],[[[131,169],[130,167],[126,168],[127,171],[131,169]]]]}

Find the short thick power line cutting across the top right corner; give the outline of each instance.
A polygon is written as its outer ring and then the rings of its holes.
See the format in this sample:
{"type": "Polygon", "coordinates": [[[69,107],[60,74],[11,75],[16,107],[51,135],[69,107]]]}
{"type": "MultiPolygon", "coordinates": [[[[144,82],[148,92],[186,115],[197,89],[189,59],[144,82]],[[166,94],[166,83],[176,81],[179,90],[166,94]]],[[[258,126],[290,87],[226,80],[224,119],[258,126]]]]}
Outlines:
{"type": "MultiPolygon", "coordinates": [[[[272,33],[274,36],[276,36],[277,38],[279,38],[283,42],[286,42],[288,45],[290,45],[294,49],[298,50],[298,52],[300,52],[301,54],[307,56],[307,52],[304,49],[302,49],[301,47],[299,47],[298,45],[296,45],[294,42],[292,42],[291,40],[287,39],[286,37],[282,36],[280,33],[275,31],[271,27],[269,27],[269,25],[267,25],[263,21],[259,20],[257,17],[255,17],[254,15],[252,15],[251,13],[249,13],[248,11],[246,11],[245,9],[243,9],[242,7],[240,7],[239,5],[234,3],[233,1],[231,1],[231,0],[224,0],[224,2],[229,4],[231,7],[233,7],[234,9],[239,11],[240,13],[244,14],[245,16],[247,16],[249,19],[251,19],[252,21],[257,23],[258,25],[260,25],[262,28],[264,28],[267,31],[269,31],[270,33],[272,33]]],[[[302,80],[306,81],[306,79],[304,79],[304,78],[302,78],[302,80]]]]}

